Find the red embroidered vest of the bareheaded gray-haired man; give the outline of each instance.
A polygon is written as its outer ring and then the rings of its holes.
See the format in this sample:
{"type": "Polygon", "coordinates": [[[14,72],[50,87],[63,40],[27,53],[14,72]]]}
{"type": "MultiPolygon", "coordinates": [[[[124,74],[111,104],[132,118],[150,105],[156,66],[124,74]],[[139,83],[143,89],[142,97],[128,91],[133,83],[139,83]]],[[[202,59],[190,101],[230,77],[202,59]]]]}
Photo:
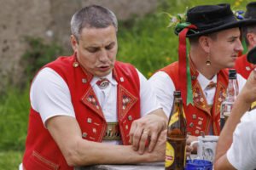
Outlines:
{"type": "MultiPolygon", "coordinates": [[[[44,67],[55,70],[67,83],[83,138],[102,142],[107,122],[96,99],[96,94],[90,86],[92,75],[83,71],[80,66],[73,67],[74,60],[74,55],[60,57],[44,67]]],[[[113,77],[118,82],[119,130],[123,144],[128,144],[131,123],[140,117],[139,77],[132,65],[119,61],[115,62],[113,77]]],[[[61,150],[55,140],[52,139],[49,131],[45,129],[39,113],[32,108],[29,117],[23,166],[26,170],[73,169],[73,167],[67,165],[67,161],[61,154],[61,150]]]]}

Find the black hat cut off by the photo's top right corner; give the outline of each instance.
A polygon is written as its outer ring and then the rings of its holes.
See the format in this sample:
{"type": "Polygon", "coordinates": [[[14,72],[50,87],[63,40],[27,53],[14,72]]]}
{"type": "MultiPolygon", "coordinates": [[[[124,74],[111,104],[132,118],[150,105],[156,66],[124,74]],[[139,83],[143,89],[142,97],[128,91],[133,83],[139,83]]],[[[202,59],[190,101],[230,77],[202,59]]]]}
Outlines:
{"type": "Polygon", "coordinates": [[[244,15],[246,25],[256,24],[256,2],[247,4],[247,12],[244,15]]]}

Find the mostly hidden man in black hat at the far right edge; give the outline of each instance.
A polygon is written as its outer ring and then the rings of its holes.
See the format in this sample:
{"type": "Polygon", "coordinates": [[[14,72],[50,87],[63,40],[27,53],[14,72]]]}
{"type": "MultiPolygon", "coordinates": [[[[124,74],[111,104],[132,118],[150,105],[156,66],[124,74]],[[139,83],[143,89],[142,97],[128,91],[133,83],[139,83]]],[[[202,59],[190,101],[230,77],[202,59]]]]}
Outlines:
{"type": "MultiPolygon", "coordinates": [[[[247,51],[249,51],[256,46],[256,2],[247,4],[247,12],[244,18],[247,20],[247,23],[245,23],[246,26],[241,27],[241,35],[246,42],[247,51]]],[[[247,61],[247,54],[243,54],[236,60],[236,71],[246,79],[250,72],[253,71],[253,67],[255,65],[247,61]]]]}

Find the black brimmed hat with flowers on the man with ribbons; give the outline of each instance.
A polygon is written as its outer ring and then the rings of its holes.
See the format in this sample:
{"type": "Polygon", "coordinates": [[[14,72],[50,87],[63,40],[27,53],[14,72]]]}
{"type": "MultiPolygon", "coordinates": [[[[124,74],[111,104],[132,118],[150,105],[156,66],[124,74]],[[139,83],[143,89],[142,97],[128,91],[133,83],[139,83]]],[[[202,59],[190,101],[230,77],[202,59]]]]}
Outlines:
{"type": "MultiPolygon", "coordinates": [[[[236,20],[236,16],[230,9],[229,3],[201,5],[189,8],[187,22],[196,26],[196,29],[190,29],[186,37],[196,37],[216,31],[236,28],[244,23],[243,20],[236,20]]],[[[183,31],[183,29],[175,29],[176,34],[180,31],[183,31]]]]}

